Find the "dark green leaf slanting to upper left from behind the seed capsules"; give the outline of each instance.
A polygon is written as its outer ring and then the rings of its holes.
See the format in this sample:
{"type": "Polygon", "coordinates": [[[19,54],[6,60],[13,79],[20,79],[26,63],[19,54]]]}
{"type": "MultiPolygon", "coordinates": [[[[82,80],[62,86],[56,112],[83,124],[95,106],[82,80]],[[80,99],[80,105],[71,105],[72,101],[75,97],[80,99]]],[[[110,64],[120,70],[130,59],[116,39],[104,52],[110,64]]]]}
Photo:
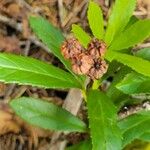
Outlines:
{"type": "Polygon", "coordinates": [[[42,42],[48,46],[50,51],[59,58],[65,67],[83,84],[84,78],[75,75],[72,72],[70,62],[66,60],[60,51],[61,44],[65,40],[63,34],[51,23],[42,17],[30,16],[30,26],[42,42]]]}

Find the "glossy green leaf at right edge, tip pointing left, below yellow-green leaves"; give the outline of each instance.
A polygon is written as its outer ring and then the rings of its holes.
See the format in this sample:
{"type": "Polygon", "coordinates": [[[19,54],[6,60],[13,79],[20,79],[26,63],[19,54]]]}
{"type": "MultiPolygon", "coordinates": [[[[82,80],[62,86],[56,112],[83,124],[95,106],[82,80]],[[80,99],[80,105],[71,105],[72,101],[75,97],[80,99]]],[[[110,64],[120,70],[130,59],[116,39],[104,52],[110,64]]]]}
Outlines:
{"type": "Polygon", "coordinates": [[[118,83],[116,87],[126,94],[150,93],[150,78],[132,72],[118,83]]]}

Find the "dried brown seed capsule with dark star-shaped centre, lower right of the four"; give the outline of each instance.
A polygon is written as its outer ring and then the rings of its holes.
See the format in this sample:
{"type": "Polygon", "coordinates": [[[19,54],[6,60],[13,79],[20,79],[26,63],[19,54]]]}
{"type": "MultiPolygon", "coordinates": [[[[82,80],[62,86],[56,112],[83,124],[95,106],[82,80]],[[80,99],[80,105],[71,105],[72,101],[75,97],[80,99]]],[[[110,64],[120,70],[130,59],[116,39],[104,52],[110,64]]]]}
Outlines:
{"type": "Polygon", "coordinates": [[[95,59],[94,65],[90,68],[87,75],[92,80],[95,80],[95,79],[98,80],[106,73],[107,69],[108,69],[108,65],[106,64],[104,60],[95,59]]]}

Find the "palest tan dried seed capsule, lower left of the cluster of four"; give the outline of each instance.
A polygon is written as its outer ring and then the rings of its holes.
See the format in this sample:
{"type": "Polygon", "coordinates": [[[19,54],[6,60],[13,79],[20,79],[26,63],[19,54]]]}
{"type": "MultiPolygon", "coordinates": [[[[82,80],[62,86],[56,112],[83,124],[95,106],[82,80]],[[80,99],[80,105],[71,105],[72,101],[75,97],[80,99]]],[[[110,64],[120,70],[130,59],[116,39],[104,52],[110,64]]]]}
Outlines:
{"type": "Polygon", "coordinates": [[[94,61],[91,56],[85,53],[80,54],[78,57],[72,59],[72,70],[76,74],[87,74],[89,69],[93,66],[94,61]]]}

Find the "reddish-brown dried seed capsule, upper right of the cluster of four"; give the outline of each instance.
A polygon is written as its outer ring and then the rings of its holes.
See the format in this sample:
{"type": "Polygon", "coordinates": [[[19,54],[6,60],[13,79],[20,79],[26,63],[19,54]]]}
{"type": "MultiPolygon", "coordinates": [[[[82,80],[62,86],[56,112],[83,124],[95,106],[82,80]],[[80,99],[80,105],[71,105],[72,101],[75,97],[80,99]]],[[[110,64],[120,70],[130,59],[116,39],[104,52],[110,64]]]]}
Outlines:
{"type": "Polygon", "coordinates": [[[91,55],[94,59],[103,57],[106,51],[106,44],[103,41],[100,41],[96,38],[93,38],[92,41],[88,44],[87,53],[91,55]]]}

